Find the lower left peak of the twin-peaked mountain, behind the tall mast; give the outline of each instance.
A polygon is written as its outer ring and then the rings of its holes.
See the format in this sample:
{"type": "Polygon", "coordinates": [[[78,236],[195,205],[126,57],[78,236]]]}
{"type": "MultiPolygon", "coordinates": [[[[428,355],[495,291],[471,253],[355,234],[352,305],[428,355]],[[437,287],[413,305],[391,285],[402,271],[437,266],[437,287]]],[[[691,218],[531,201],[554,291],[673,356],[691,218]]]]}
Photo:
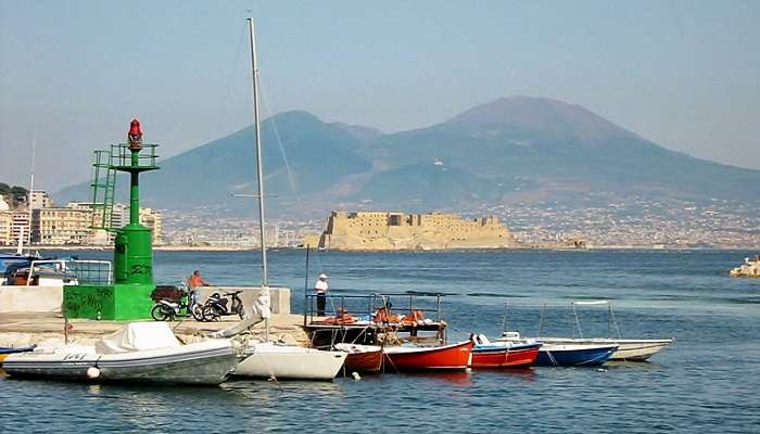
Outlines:
{"type": "MultiPolygon", "coordinates": [[[[301,195],[318,194],[341,178],[364,173],[370,163],[357,155],[359,139],[343,128],[325,124],[306,112],[282,113],[262,125],[264,174],[271,204],[291,205],[301,195]],[[280,149],[279,143],[282,144],[280,149]],[[284,157],[283,157],[284,155],[284,157]],[[286,164],[287,162],[287,164],[286,164]]],[[[251,202],[232,193],[253,193],[254,132],[248,127],[160,163],[161,170],[141,179],[144,203],[164,208],[221,207],[238,213],[251,202]]],[[[119,178],[119,200],[126,197],[126,178],[119,178]]],[[[87,197],[88,184],[62,190],[63,201],[87,197]]]]}

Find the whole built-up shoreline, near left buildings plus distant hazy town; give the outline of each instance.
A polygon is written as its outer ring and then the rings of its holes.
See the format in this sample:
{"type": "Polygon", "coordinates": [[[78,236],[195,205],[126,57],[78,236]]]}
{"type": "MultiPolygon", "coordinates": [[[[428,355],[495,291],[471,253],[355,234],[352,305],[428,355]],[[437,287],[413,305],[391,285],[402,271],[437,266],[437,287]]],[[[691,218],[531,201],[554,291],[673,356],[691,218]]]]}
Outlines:
{"type": "MultiPolygon", "coordinates": [[[[93,210],[88,202],[56,205],[49,193],[28,192],[7,184],[0,189],[0,246],[27,245],[103,246],[113,234],[92,229],[93,210]]],[[[2,187],[0,186],[0,187],[2,187]]],[[[457,214],[466,218],[494,216],[504,222],[516,246],[563,247],[582,241],[583,247],[607,248],[757,248],[760,246],[760,213],[739,201],[696,203],[671,200],[667,204],[646,197],[604,197],[590,194],[588,203],[517,203],[474,205],[457,214]],[[603,204],[604,203],[604,204],[603,204]],[[747,228],[756,228],[747,229],[747,228]]],[[[368,206],[368,205],[364,205],[368,206]]],[[[359,210],[363,205],[357,206],[359,210]]],[[[271,219],[267,243],[297,247],[317,239],[328,227],[329,214],[302,219],[271,219]]],[[[116,203],[111,227],[128,219],[128,206],[116,203]]],[[[162,247],[252,248],[258,245],[258,225],[252,217],[218,217],[214,209],[193,212],[140,208],[140,222],[153,232],[162,247]]],[[[317,243],[312,243],[315,246],[317,243]]]]}

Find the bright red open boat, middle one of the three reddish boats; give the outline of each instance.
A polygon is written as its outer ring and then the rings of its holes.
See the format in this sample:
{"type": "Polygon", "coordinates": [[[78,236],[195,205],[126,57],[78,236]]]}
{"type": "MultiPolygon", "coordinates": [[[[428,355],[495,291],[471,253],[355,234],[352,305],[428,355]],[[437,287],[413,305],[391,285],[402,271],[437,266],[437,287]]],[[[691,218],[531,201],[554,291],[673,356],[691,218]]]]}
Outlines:
{"type": "Polygon", "coordinates": [[[396,371],[465,370],[470,366],[472,341],[443,346],[392,346],[383,348],[396,371]]]}

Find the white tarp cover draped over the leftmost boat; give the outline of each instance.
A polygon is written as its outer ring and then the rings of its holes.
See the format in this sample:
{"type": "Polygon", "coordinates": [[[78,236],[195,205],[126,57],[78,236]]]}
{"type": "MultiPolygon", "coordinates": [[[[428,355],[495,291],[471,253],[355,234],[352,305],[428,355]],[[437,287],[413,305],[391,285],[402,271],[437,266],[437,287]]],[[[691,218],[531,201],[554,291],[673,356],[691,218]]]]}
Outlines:
{"type": "Polygon", "coordinates": [[[180,346],[166,322],[130,322],[94,344],[98,354],[117,354],[180,346]]]}

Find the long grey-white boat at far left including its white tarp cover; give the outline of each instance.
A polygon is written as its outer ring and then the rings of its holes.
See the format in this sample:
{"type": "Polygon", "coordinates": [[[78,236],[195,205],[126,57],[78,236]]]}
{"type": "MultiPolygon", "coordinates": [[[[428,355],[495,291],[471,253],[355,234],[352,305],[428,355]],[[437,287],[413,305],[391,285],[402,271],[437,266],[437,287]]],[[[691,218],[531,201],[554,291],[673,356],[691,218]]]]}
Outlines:
{"type": "Polygon", "coordinates": [[[151,384],[219,384],[238,365],[229,340],[182,345],[165,322],[131,322],[92,346],[38,347],[8,356],[11,378],[151,384]]]}

